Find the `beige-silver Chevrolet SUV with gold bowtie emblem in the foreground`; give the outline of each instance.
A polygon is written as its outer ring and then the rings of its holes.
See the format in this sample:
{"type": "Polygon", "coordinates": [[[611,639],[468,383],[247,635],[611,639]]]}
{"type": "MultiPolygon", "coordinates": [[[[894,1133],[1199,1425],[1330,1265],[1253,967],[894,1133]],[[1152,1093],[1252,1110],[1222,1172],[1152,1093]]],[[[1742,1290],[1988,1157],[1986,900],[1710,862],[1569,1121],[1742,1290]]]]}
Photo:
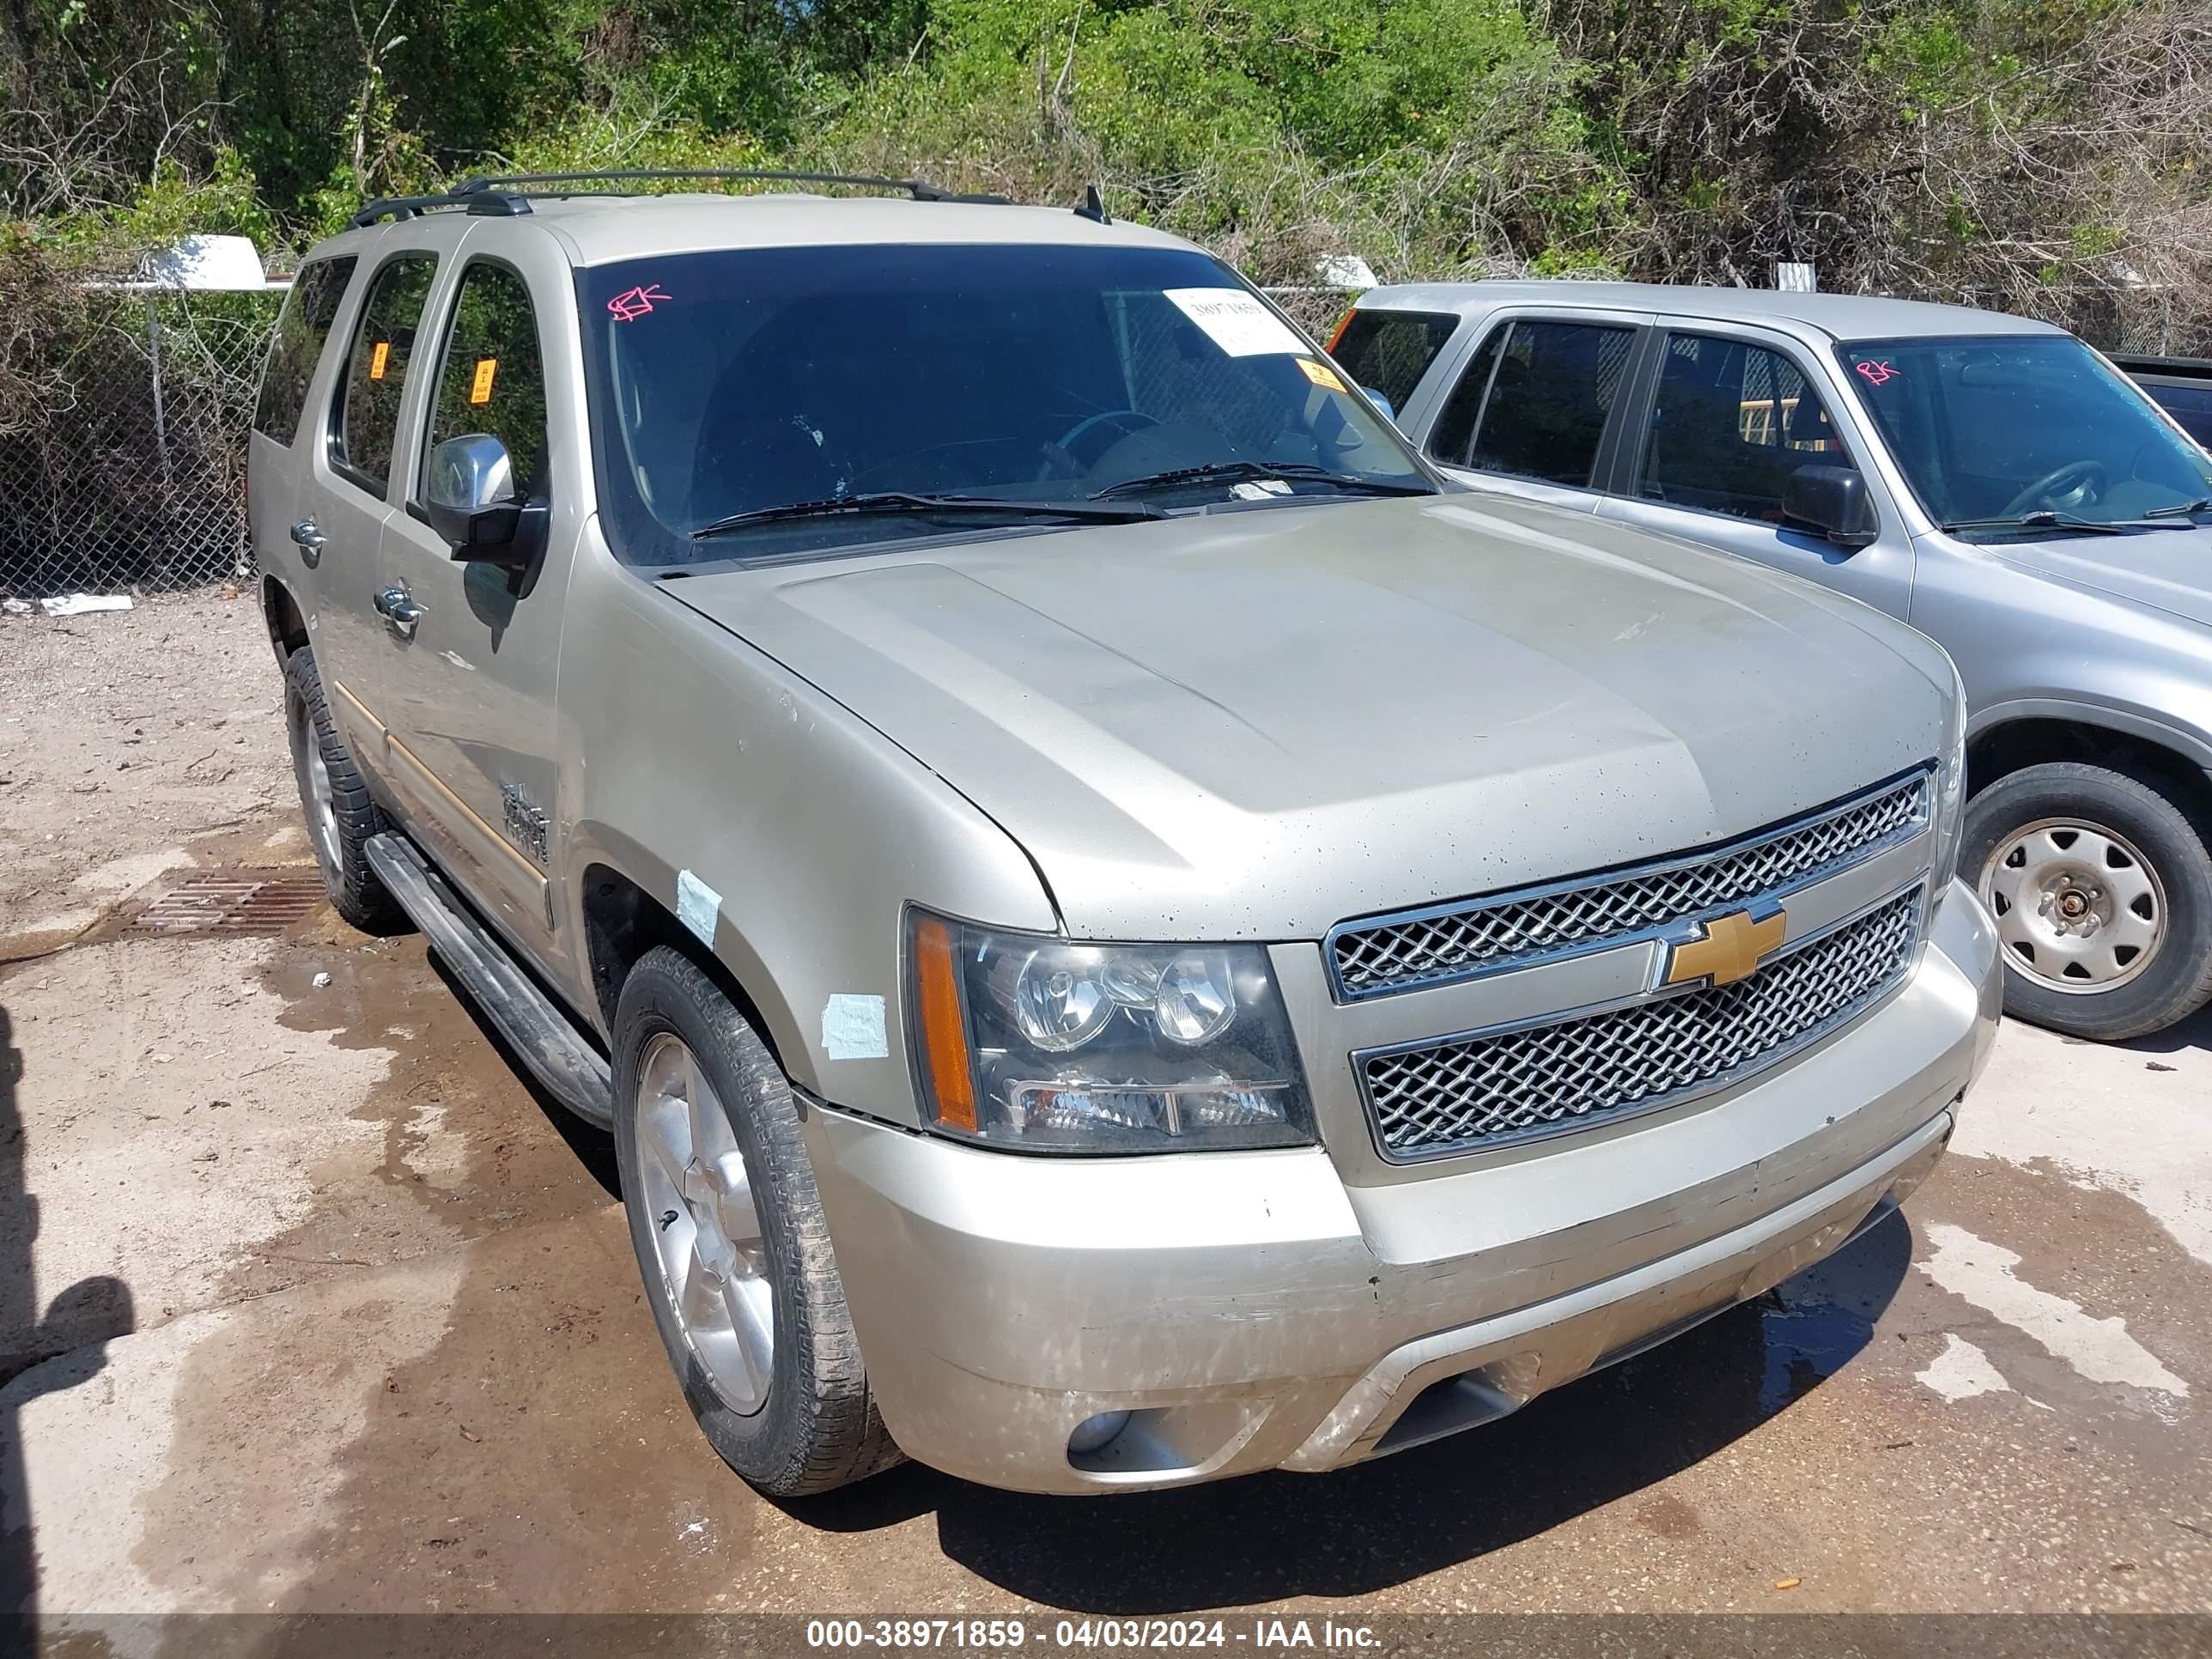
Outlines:
{"type": "Polygon", "coordinates": [[[319,246],[252,524],[332,900],[613,1130],[748,1480],[1336,1469],[1927,1175],[1933,644],[1447,484],[1095,204],[608,188],[319,246]]]}

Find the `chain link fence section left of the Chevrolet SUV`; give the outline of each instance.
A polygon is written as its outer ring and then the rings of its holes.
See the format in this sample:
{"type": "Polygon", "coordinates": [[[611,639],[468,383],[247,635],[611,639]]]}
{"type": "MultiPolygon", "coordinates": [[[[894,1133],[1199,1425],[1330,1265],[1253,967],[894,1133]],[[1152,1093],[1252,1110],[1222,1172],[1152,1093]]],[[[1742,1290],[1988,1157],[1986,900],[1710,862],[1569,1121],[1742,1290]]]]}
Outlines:
{"type": "Polygon", "coordinates": [[[0,593],[252,575],[246,434],[281,299],[84,290],[20,338],[0,407],[0,593]]]}

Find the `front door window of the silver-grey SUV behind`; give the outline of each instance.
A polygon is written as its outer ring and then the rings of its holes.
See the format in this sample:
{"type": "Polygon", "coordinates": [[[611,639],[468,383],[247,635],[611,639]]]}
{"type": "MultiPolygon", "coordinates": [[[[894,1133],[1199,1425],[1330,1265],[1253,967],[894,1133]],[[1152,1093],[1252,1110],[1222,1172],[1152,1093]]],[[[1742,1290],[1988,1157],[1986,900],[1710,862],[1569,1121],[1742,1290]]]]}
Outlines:
{"type": "Polygon", "coordinates": [[[1639,495],[1778,524],[1783,480],[1807,465],[1854,462],[1796,363],[1747,341],[1668,336],[1639,495]]]}

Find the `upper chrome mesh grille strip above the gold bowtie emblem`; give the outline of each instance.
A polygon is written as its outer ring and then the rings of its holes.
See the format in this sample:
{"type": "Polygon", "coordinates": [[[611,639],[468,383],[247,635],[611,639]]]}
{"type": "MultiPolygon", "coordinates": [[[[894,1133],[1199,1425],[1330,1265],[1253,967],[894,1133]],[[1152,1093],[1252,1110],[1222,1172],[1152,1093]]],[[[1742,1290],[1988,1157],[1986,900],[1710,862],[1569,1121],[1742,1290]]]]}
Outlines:
{"type": "Polygon", "coordinates": [[[1577,883],[1471,898],[1329,936],[1343,1002],[1601,949],[1686,916],[1834,876],[1929,821],[1929,774],[1887,783],[1820,812],[1710,852],[1577,883]]]}

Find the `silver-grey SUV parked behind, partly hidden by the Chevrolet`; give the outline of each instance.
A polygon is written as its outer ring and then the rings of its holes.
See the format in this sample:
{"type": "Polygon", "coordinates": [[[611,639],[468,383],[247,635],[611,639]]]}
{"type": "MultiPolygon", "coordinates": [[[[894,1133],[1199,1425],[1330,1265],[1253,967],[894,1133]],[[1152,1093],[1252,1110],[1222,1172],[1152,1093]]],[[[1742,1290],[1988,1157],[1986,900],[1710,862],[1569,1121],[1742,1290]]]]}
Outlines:
{"type": "Polygon", "coordinates": [[[2073,334],[1845,294],[1444,283],[1340,361],[1489,491],[1809,577],[1973,708],[1960,874],[2004,1006],[2135,1037],[2212,998],[2212,458],[2073,334]]]}

